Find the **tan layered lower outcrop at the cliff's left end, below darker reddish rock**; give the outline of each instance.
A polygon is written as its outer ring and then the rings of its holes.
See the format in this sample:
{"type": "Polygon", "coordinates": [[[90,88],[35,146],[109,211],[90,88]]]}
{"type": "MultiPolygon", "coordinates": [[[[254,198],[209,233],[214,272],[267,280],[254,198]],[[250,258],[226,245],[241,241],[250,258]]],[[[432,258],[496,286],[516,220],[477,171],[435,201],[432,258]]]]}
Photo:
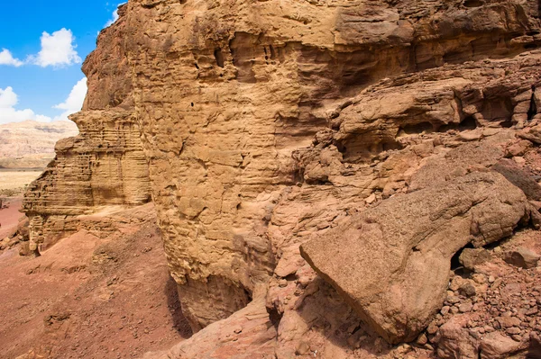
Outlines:
{"type": "Polygon", "coordinates": [[[79,112],[71,118],[80,134],[57,143],[55,160],[30,184],[24,198],[32,250],[45,250],[76,231],[77,221],[70,220],[75,216],[151,199],[132,112],[79,112]]]}

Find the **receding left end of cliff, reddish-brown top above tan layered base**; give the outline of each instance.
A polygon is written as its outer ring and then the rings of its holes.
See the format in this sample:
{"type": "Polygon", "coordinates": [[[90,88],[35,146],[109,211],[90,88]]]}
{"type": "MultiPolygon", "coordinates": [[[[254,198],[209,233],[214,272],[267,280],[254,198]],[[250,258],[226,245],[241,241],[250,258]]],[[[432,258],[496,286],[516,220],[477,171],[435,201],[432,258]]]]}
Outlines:
{"type": "Polygon", "coordinates": [[[119,22],[100,35],[103,47],[83,66],[90,89],[83,111],[70,117],[79,134],[57,143],[55,159],[25,194],[32,251],[76,232],[79,215],[151,200],[141,131],[130,100],[123,101],[131,91],[124,53],[119,52],[123,31],[119,22]],[[95,63],[104,66],[95,69],[95,63]]]}

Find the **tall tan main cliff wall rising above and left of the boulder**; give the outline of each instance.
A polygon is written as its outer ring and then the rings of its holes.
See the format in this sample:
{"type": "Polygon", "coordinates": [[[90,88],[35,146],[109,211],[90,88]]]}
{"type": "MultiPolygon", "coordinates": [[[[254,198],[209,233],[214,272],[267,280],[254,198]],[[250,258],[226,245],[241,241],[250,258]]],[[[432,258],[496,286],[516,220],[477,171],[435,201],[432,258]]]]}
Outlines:
{"type": "Polygon", "coordinates": [[[401,148],[400,129],[458,127],[468,116],[524,121],[511,119],[513,99],[500,94],[481,112],[466,107],[472,95],[460,91],[482,84],[490,67],[470,79],[436,73],[441,81],[399,99],[395,88],[362,91],[536,47],[537,11],[534,2],[130,2],[133,99],[171,273],[194,328],[242,308],[276,266],[297,263],[303,238],[374,189],[403,185],[406,168],[367,165],[401,148]],[[319,131],[319,148],[303,149],[319,131]],[[299,229],[306,217],[319,223],[299,229]]]}

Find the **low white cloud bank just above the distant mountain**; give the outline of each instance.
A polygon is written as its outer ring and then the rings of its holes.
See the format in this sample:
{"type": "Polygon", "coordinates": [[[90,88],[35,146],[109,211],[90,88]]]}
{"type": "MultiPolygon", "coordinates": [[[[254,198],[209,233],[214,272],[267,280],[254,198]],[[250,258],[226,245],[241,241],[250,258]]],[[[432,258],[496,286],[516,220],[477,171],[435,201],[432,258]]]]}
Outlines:
{"type": "Polygon", "coordinates": [[[0,124],[27,120],[40,122],[67,121],[71,113],[81,110],[86,95],[87,77],[84,77],[73,86],[66,101],[52,106],[54,109],[63,110],[63,112],[54,118],[50,118],[49,116],[33,112],[31,109],[17,110],[15,106],[19,103],[19,98],[15,94],[14,89],[11,86],[5,89],[0,88],[0,124]]]}

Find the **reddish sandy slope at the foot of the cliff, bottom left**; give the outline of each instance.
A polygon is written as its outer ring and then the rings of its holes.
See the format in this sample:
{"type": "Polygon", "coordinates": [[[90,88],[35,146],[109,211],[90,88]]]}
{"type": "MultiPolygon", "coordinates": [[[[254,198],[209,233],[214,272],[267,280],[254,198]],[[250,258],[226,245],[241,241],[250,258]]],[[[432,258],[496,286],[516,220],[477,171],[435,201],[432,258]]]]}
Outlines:
{"type": "Polygon", "coordinates": [[[137,358],[190,336],[152,207],[141,211],[37,258],[0,252],[0,358],[137,358]]]}

